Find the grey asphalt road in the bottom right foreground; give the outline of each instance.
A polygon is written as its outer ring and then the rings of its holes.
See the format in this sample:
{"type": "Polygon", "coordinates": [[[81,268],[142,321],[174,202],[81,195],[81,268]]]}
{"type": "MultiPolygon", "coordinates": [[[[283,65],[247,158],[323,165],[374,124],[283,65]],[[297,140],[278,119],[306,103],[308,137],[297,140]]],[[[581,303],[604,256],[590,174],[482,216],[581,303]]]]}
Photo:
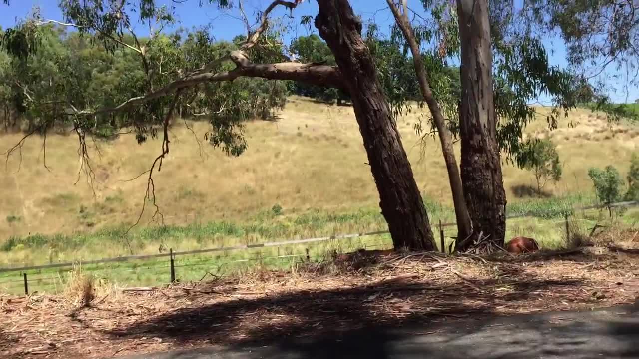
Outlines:
{"type": "Polygon", "coordinates": [[[421,328],[368,328],[313,341],[119,357],[125,358],[639,358],[639,307],[469,319],[421,328]]]}

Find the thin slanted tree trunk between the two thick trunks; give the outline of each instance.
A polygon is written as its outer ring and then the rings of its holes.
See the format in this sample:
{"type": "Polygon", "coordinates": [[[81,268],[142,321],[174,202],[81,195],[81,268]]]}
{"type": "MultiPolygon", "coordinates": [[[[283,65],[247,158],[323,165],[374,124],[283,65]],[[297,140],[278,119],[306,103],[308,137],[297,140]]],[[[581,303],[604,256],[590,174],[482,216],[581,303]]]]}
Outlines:
{"type": "MultiPolygon", "coordinates": [[[[450,130],[446,127],[442,109],[435,99],[435,96],[433,96],[433,91],[431,91],[431,86],[428,83],[426,67],[424,66],[422,54],[420,53],[419,45],[415,39],[412,26],[408,21],[408,13],[404,12],[403,15],[399,13],[397,6],[395,6],[392,0],[387,0],[387,3],[389,4],[389,8],[395,17],[397,24],[404,34],[406,42],[408,42],[413,55],[413,64],[415,65],[415,73],[417,74],[417,80],[419,81],[419,88],[422,91],[424,101],[426,101],[428,109],[431,111],[431,115],[433,115],[435,126],[437,127],[437,133],[442,144],[443,159],[448,171],[452,202],[455,208],[458,232],[457,238],[459,241],[462,241],[465,240],[465,238],[468,238],[468,236],[472,233],[472,225],[470,222],[470,215],[468,214],[468,207],[466,207],[464,199],[464,190],[461,185],[461,177],[459,176],[459,167],[455,158],[455,150],[452,147],[452,135],[450,134],[450,130]]],[[[406,9],[404,9],[404,11],[406,11],[406,9]]]]}

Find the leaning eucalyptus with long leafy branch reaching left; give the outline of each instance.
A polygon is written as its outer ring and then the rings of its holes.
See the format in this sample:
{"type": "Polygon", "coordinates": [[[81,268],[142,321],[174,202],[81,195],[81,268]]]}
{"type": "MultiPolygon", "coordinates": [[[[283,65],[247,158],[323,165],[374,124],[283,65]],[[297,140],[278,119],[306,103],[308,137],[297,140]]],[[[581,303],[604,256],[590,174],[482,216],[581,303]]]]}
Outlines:
{"type": "Polygon", "coordinates": [[[91,34],[111,52],[129,51],[141,68],[123,80],[127,86],[123,93],[128,93],[128,98],[107,106],[78,102],[68,96],[75,84],[68,84],[65,91],[42,94],[42,97],[34,96],[32,83],[20,84],[27,97],[24,104],[29,109],[40,109],[43,115],[47,112],[47,116],[38,117],[36,130],[45,130],[54,120],[66,121],[84,143],[86,135],[92,133],[96,118],[118,113],[120,120],[115,126],[134,128],[139,141],[148,135],[159,135],[163,140],[162,151],[147,173],[146,190],[146,197],[155,204],[152,176],[160,171],[169,153],[168,126],[176,109],[189,108],[194,101],[199,102],[201,108],[227,109],[225,116],[206,111],[212,123],[209,138],[227,153],[239,155],[245,148],[239,122],[243,103],[233,93],[225,93],[224,86],[243,78],[261,78],[335,88],[350,95],[380,194],[381,213],[389,225],[395,247],[433,249],[433,234],[419,188],[385,98],[374,57],[361,36],[362,22],[349,2],[319,0],[319,12],[314,20],[319,35],[334,55],[336,66],[288,61],[282,54],[278,36],[269,39],[272,12],[284,8],[292,13],[300,1],[272,1],[259,14],[256,27],[249,25],[241,0],[210,0],[210,3],[223,10],[236,6],[247,25],[245,40],[235,46],[220,46],[215,51],[197,51],[192,56],[185,56],[185,49],[174,52],[174,47],[164,46],[160,36],[162,29],[174,23],[174,14],[172,9],[158,6],[154,0],[63,0],[59,4],[65,17],[63,22],[36,18],[8,31],[3,38],[4,47],[20,61],[31,61],[33,54],[38,56],[43,25],[58,24],[73,27],[81,34],[91,34]],[[132,29],[134,14],[148,24],[148,38],[138,36],[132,29]],[[212,103],[220,100],[222,106],[212,103]]]}

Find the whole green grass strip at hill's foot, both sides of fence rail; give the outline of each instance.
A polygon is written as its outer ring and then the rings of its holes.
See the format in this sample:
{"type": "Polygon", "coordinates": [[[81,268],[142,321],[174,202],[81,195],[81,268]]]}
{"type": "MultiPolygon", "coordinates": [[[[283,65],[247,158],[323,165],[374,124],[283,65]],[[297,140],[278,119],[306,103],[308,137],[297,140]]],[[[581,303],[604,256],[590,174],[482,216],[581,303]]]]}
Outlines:
{"type": "MultiPolygon", "coordinates": [[[[639,222],[639,208],[620,211],[608,218],[607,211],[573,210],[588,206],[592,195],[569,195],[550,199],[528,199],[507,206],[508,215],[527,215],[507,220],[506,239],[514,236],[535,238],[543,248],[566,246],[564,215],[571,215],[571,225],[586,231],[594,223],[614,221],[620,225],[639,222]],[[576,224],[573,224],[576,223],[576,224]]],[[[454,222],[454,211],[448,206],[425,201],[431,219],[436,244],[440,246],[438,222],[454,222]]],[[[219,221],[206,224],[140,227],[127,234],[128,226],[100,229],[93,233],[70,235],[32,234],[13,236],[0,244],[0,265],[28,266],[33,264],[65,263],[91,259],[125,256],[130,254],[157,254],[162,247],[182,252],[202,248],[224,248],[238,244],[263,243],[304,239],[335,234],[384,231],[387,225],[377,208],[346,213],[309,211],[301,215],[286,215],[266,210],[247,222],[219,221]]],[[[456,227],[445,227],[445,245],[456,236],[456,227]]],[[[352,252],[358,248],[391,248],[389,234],[329,240],[301,245],[224,250],[208,254],[176,257],[178,279],[199,280],[207,272],[231,273],[256,266],[268,269],[288,269],[307,256],[312,260],[325,259],[333,251],[352,252]]],[[[441,249],[441,248],[440,248],[441,249]]],[[[106,263],[83,266],[84,270],[121,286],[156,286],[169,280],[169,259],[160,257],[128,263],[106,263]]],[[[65,285],[70,268],[29,271],[29,285],[33,291],[59,291],[65,285]],[[33,283],[32,283],[33,280],[33,283]],[[39,289],[37,289],[39,288],[39,289]]],[[[23,291],[21,273],[0,273],[0,291],[23,291]]]]}

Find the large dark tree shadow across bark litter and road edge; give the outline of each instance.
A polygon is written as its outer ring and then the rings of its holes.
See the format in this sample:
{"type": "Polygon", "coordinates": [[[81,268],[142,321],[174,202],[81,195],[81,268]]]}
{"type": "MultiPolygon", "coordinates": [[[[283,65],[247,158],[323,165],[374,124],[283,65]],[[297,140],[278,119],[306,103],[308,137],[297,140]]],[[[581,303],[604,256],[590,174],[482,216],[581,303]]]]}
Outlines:
{"type": "MultiPolygon", "coordinates": [[[[508,272],[501,279],[464,279],[454,286],[381,280],[345,289],[227,300],[177,309],[108,333],[116,337],[159,337],[178,346],[194,342],[223,344],[227,348],[269,346],[272,352],[262,349],[261,358],[468,358],[472,343],[464,336],[489,325],[488,318],[499,316],[504,305],[541,300],[539,291],[566,293],[569,298],[569,293],[578,291],[583,284],[582,280],[509,280],[511,275],[508,272]],[[463,321],[470,317],[472,320],[463,321]],[[451,323],[458,324],[440,341],[420,344],[419,340],[429,336],[415,335],[427,334],[425,330],[444,330],[451,323]],[[445,356],[428,356],[422,348],[426,344],[433,350],[449,344],[459,348],[442,352],[445,356]],[[405,356],[391,355],[390,347],[401,347],[405,356]],[[281,355],[282,351],[295,355],[281,355]]],[[[631,332],[639,332],[639,328],[633,327],[631,332]]],[[[525,340],[512,345],[515,344],[517,351],[500,357],[514,358],[514,353],[528,346],[525,340]]]]}

